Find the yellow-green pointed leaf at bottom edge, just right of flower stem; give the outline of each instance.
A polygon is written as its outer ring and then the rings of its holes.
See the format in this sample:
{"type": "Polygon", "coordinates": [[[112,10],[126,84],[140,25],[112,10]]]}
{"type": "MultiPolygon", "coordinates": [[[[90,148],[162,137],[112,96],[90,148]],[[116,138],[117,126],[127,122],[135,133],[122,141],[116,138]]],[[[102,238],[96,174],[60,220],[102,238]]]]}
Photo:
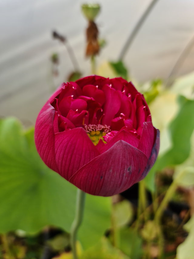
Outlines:
{"type": "Polygon", "coordinates": [[[95,246],[86,250],[80,259],[129,259],[129,257],[113,247],[109,240],[104,237],[95,246]]]}

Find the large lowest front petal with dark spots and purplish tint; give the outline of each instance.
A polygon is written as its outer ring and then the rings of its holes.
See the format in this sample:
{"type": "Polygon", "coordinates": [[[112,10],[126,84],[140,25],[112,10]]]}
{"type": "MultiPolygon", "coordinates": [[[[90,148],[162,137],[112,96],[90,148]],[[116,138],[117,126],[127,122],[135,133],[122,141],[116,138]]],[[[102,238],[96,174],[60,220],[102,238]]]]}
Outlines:
{"type": "Polygon", "coordinates": [[[70,179],[79,189],[99,196],[112,196],[139,181],[148,159],[146,155],[123,140],[92,159],[70,179]]]}

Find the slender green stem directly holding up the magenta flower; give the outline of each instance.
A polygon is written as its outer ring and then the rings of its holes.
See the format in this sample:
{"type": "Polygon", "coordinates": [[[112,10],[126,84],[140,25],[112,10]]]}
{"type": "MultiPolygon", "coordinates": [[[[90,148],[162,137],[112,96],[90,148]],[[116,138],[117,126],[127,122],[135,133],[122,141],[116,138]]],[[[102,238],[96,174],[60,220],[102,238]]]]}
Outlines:
{"type": "Polygon", "coordinates": [[[85,204],[85,192],[80,189],[77,190],[77,200],[76,200],[76,209],[75,209],[75,219],[72,223],[70,231],[70,243],[73,253],[73,258],[78,259],[76,251],[76,240],[77,240],[77,231],[79,226],[82,223],[83,214],[84,214],[84,204],[85,204]]]}

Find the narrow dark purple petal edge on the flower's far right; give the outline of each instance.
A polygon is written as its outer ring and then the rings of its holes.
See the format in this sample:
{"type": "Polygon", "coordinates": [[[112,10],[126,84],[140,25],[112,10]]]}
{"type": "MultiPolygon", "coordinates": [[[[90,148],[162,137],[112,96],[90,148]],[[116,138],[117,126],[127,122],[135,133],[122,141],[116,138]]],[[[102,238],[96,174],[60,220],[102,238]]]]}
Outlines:
{"type": "Polygon", "coordinates": [[[160,131],[159,131],[159,129],[157,129],[156,130],[156,140],[155,140],[155,143],[153,145],[152,152],[151,152],[151,154],[149,156],[146,168],[144,169],[144,171],[142,173],[142,177],[141,177],[140,180],[142,180],[144,177],[146,177],[146,175],[148,174],[149,170],[152,168],[152,166],[156,162],[156,159],[158,157],[159,147],[160,147],[160,131]]]}

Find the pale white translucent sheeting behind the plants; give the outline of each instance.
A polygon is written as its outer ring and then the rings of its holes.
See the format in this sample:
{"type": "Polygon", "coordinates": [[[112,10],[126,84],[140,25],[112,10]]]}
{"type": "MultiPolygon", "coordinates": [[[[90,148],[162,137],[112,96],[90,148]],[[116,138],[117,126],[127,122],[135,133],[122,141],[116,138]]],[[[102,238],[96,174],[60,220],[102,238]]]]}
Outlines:
{"type": "MultiPolygon", "coordinates": [[[[0,116],[17,116],[26,125],[51,94],[50,56],[59,53],[60,77],[64,81],[73,66],[66,49],[53,40],[56,29],[68,37],[84,75],[85,28],[81,0],[0,0],[0,116]]],[[[98,64],[117,60],[119,53],[150,0],[100,0],[96,19],[100,38],[107,41],[98,64]]],[[[182,50],[194,36],[194,0],[159,0],[139,30],[124,61],[139,82],[168,78],[182,50]]],[[[194,47],[176,76],[194,70],[194,47]]]]}

